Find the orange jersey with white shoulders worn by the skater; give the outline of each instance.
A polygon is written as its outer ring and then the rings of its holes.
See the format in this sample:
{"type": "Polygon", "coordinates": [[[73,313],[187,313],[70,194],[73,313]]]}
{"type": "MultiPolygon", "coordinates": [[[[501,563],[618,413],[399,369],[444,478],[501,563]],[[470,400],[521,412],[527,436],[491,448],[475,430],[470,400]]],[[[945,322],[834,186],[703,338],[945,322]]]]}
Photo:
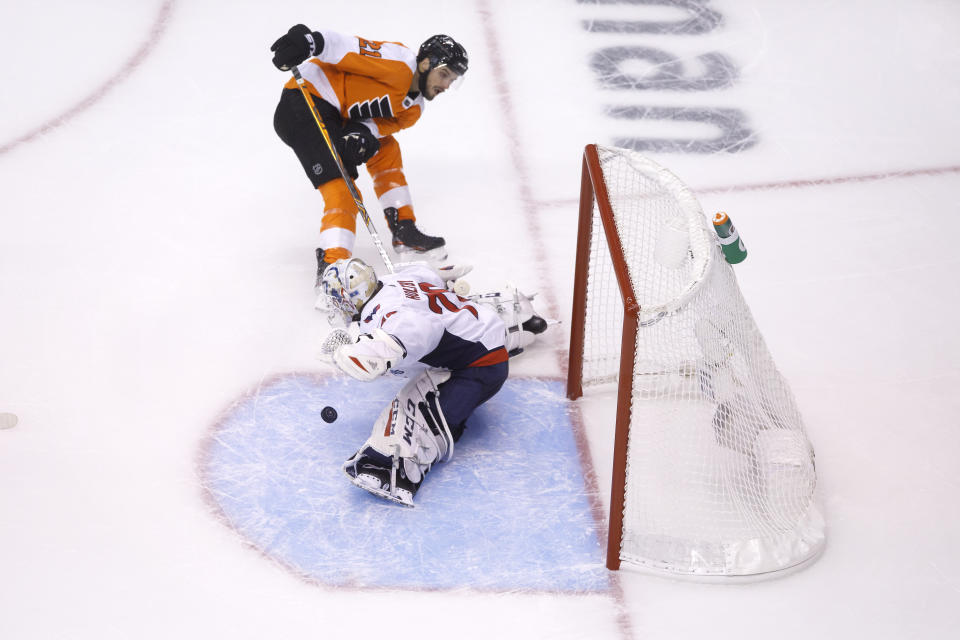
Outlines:
{"type": "MultiPolygon", "coordinates": [[[[321,31],[323,51],[299,66],[309,91],[344,118],[362,121],[378,138],[406,129],[423,112],[422,94],[411,98],[416,54],[399,42],[378,42],[321,31]]],[[[291,79],[285,85],[296,89],[291,79]]]]}

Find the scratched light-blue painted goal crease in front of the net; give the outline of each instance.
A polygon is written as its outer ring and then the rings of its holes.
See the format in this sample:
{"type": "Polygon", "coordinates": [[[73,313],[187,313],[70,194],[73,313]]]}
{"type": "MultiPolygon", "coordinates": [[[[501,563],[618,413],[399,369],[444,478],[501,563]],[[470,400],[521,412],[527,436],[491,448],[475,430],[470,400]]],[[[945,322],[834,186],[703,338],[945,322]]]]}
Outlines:
{"type": "Polygon", "coordinates": [[[291,374],[265,384],[216,426],[209,495],[254,546],[323,584],[609,591],[562,384],[508,380],[408,509],[341,470],[402,382],[291,374]]]}

